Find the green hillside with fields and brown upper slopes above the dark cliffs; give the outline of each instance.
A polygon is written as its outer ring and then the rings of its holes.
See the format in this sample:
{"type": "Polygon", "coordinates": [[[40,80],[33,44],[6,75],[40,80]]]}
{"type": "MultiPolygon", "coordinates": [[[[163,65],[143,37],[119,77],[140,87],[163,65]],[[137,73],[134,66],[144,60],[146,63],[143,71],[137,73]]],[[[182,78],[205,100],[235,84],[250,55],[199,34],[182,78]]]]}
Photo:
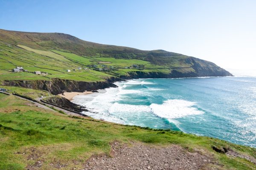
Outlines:
{"type": "MultiPolygon", "coordinates": [[[[0,73],[8,73],[14,66],[23,66],[29,72],[38,70],[52,74],[47,78],[81,81],[102,81],[111,76],[128,75],[138,71],[163,73],[169,78],[231,75],[214,63],[174,52],[143,51],[91,43],[62,33],[16,32],[3,29],[0,29],[0,60],[6,63],[1,66],[0,73]],[[134,64],[143,67],[132,67],[134,64]],[[90,72],[83,70],[76,74],[67,73],[67,69],[85,68],[89,65],[95,65],[93,69],[100,73],[91,71],[92,69],[90,72]],[[99,70],[104,68],[105,72],[99,70]]],[[[28,73],[17,75],[22,76],[30,77],[28,73]]]]}

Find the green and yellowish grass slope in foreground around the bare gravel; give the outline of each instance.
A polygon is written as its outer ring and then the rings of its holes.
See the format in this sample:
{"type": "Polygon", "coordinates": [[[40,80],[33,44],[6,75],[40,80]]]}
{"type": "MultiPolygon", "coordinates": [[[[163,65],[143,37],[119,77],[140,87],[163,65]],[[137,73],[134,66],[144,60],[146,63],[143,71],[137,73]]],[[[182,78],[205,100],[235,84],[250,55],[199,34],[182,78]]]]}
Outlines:
{"type": "Polygon", "coordinates": [[[256,170],[255,164],[217,153],[212,145],[230,147],[256,157],[255,148],[182,132],[72,118],[35,107],[14,96],[0,103],[0,170],[22,170],[38,160],[43,162],[39,169],[57,169],[51,164],[66,164],[62,169],[79,169],[93,154],[109,154],[110,143],[116,140],[160,146],[179,144],[190,151],[199,149],[213,154],[221,170],[256,170]]]}

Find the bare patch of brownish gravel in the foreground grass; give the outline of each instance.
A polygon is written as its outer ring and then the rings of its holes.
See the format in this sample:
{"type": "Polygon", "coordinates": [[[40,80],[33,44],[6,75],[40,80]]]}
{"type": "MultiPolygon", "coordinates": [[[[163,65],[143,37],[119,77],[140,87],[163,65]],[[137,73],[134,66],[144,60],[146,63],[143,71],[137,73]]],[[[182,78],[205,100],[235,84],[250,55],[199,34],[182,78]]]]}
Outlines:
{"type": "Polygon", "coordinates": [[[112,145],[113,157],[96,156],[84,165],[84,170],[198,170],[214,164],[212,158],[201,153],[189,153],[182,147],[148,147],[134,144],[120,147],[112,145]]]}

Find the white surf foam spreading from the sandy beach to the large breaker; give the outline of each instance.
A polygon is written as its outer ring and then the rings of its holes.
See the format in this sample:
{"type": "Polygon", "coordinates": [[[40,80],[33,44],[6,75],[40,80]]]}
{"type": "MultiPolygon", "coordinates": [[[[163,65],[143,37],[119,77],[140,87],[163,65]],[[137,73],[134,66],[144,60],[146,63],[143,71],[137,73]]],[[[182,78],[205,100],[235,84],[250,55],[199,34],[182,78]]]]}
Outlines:
{"type": "MultiPolygon", "coordinates": [[[[91,95],[80,95],[73,102],[86,106],[91,112],[85,112],[85,114],[90,115],[93,118],[101,118],[116,123],[124,123],[125,118],[144,113],[153,113],[154,115],[167,119],[181,118],[187,115],[200,115],[204,113],[195,107],[196,103],[179,99],[167,100],[164,101],[163,104],[151,104],[150,106],[120,104],[118,102],[119,100],[122,100],[123,96],[126,94],[143,93],[143,89],[126,89],[127,84],[134,85],[142,83],[151,84],[150,82],[145,82],[143,80],[117,82],[116,84],[118,85],[118,88],[108,88],[91,95]]],[[[148,88],[147,90],[154,91],[163,89],[148,88]]],[[[178,124],[177,121],[170,121],[178,124]]]]}

